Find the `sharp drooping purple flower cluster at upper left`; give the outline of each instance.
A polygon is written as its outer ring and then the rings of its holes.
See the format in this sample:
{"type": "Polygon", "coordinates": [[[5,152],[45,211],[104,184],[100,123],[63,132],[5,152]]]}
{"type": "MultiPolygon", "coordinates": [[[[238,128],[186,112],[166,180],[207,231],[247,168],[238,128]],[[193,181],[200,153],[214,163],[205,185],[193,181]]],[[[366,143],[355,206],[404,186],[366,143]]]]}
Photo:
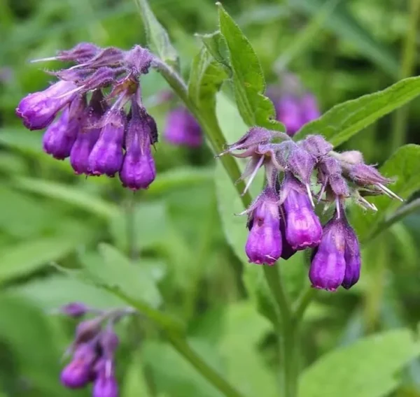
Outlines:
{"type": "Polygon", "coordinates": [[[47,128],[43,149],[69,157],[76,174],[118,173],[123,186],[146,189],[155,179],[158,131],[141,102],[139,78],[151,67],[151,52],[80,43],[51,59],[75,65],[50,72],[59,80],[22,99],[16,115],[28,129],[47,128]]]}

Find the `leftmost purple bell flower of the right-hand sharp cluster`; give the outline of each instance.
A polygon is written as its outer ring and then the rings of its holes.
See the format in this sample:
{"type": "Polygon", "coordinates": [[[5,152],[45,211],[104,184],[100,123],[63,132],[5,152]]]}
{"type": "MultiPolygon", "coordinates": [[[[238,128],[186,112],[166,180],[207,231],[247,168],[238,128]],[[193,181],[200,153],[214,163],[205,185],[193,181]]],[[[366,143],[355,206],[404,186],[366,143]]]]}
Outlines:
{"type": "Polygon", "coordinates": [[[274,189],[266,187],[248,211],[246,255],[254,264],[273,265],[281,256],[279,203],[274,189]]]}

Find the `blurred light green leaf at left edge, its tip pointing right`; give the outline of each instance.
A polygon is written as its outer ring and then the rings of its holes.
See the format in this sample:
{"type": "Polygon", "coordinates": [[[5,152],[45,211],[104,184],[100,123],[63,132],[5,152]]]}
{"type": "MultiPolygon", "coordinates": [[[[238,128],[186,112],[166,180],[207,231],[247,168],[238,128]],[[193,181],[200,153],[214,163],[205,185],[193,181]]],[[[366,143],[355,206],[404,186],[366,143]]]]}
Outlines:
{"type": "Polygon", "coordinates": [[[52,261],[57,261],[70,254],[78,245],[85,243],[86,233],[43,237],[1,248],[0,284],[18,277],[29,275],[52,261]]]}

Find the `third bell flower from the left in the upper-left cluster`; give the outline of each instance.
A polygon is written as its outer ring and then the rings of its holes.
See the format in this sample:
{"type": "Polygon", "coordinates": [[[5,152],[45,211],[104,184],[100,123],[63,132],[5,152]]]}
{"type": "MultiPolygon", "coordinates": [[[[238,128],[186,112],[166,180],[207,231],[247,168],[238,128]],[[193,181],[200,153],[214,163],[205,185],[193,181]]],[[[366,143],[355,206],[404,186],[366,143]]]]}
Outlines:
{"type": "Polygon", "coordinates": [[[104,96],[100,90],[92,94],[92,99],[85,111],[85,119],[71,147],[70,164],[76,174],[90,175],[89,156],[101,133],[98,124],[105,112],[103,101],[104,96]]]}

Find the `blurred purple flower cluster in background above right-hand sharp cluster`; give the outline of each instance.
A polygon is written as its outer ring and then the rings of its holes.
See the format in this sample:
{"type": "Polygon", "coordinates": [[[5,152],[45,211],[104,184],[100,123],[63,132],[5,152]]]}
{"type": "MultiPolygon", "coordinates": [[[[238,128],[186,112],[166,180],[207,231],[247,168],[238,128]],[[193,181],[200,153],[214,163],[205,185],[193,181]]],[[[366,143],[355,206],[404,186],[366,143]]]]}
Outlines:
{"type": "Polygon", "coordinates": [[[280,87],[269,87],[267,95],[274,102],[276,119],[284,124],[289,136],[294,136],[321,113],[316,97],[302,88],[297,76],[287,73],[282,80],[280,87]]]}

